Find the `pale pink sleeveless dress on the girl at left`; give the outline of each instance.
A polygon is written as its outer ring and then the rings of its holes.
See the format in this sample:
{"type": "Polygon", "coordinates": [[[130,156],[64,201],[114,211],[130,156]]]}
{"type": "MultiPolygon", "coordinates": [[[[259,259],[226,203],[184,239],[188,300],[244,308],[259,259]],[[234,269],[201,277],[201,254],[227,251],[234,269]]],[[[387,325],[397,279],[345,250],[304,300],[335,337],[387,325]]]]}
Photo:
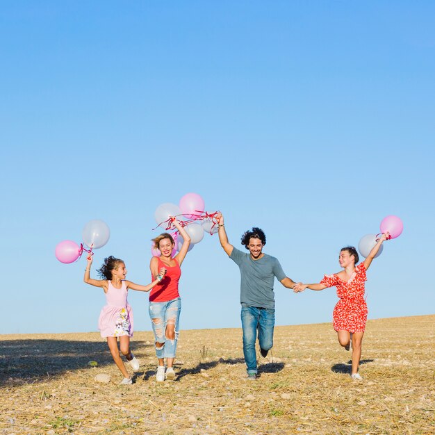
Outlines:
{"type": "Polygon", "coordinates": [[[127,302],[128,290],[125,281],[121,288],[115,288],[108,282],[106,305],[101,309],[98,329],[101,337],[133,336],[133,311],[127,302]]]}

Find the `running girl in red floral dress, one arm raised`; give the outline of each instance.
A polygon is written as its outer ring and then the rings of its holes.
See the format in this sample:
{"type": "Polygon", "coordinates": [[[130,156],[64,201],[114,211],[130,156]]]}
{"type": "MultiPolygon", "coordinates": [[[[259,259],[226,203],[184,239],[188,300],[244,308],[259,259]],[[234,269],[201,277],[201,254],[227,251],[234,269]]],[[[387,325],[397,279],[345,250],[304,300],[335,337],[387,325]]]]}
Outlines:
{"type": "Polygon", "coordinates": [[[343,247],[338,256],[338,263],[343,268],[340,272],[332,275],[325,275],[319,284],[302,284],[295,286],[295,293],[311,290],[323,290],[327,287],[336,286],[337,302],[332,315],[334,329],[337,331],[338,343],[350,349],[352,345],[352,379],[362,379],[358,373],[359,360],[361,359],[361,343],[364,330],[366,329],[367,304],[364,299],[364,286],[366,281],[366,270],[370,267],[373,258],[379,251],[384,240],[389,234],[383,233],[377,244],[372,248],[367,258],[356,265],[359,261],[358,252],[353,246],[343,247]]]}

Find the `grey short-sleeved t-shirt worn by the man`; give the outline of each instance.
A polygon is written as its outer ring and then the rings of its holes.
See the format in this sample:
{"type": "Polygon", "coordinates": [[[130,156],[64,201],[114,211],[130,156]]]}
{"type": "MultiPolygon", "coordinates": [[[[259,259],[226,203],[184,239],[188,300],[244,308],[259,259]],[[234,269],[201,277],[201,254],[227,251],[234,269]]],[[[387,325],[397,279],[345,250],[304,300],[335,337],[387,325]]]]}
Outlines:
{"type": "Polygon", "coordinates": [[[264,254],[258,260],[252,260],[249,252],[235,247],[229,258],[240,268],[240,303],[274,309],[274,278],[281,281],[286,277],[277,258],[264,254]]]}

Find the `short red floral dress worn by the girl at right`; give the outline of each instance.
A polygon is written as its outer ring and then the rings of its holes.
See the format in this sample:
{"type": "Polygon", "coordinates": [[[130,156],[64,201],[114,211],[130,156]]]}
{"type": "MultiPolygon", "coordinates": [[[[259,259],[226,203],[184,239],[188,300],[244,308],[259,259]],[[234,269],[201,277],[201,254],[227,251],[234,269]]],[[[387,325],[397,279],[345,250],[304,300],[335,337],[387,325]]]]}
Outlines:
{"type": "Polygon", "coordinates": [[[336,286],[337,302],[332,322],[336,331],[364,332],[367,321],[367,304],[364,300],[366,266],[360,263],[356,266],[349,281],[343,281],[336,274],[325,275],[320,284],[327,287],[336,286]]]}

